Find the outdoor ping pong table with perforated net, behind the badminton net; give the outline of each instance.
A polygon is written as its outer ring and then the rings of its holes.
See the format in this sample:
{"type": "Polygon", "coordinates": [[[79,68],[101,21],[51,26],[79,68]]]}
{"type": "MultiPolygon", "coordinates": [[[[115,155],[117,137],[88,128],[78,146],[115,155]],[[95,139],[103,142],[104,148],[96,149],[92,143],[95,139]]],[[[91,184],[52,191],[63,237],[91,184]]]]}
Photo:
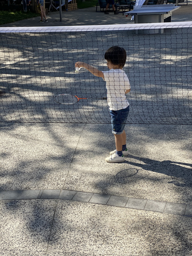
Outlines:
{"type": "MultiPolygon", "coordinates": [[[[137,5],[134,9],[129,12],[123,13],[123,15],[134,15],[135,24],[138,23],[161,23],[161,22],[171,22],[172,12],[178,10],[181,6],[175,6],[175,4],[161,4],[161,5],[137,5]]],[[[161,31],[155,31],[155,33],[146,34],[156,34],[163,33],[161,31]]],[[[145,34],[145,33],[140,33],[145,34]]]]}

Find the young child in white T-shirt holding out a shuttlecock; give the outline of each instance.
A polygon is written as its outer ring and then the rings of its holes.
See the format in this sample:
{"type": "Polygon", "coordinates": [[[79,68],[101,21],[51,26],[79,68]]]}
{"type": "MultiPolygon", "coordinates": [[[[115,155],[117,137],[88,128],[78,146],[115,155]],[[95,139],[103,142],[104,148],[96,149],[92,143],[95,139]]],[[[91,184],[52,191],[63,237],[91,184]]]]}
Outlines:
{"type": "Polygon", "coordinates": [[[111,151],[105,161],[108,163],[124,162],[124,155],[128,155],[124,127],[129,114],[129,102],[125,94],[130,92],[129,79],[122,69],[126,61],[126,51],[119,46],[113,46],[105,52],[104,58],[109,71],[100,71],[84,62],[76,62],[75,67],[86,68],[94,76],[102,77],[106,82],[107,102],[116,150],[111,151]]]}

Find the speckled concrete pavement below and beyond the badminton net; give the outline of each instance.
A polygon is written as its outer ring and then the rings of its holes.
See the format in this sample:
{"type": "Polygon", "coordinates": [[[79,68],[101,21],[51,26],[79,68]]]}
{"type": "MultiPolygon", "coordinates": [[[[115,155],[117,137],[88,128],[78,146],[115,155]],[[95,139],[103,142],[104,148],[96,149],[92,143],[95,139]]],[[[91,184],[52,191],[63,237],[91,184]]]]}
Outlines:
{"type": "MultiPolygon", "coordinates": [[[[191,20],[191,1],[177,12],[174,21],[191,20]]],[[[63,16],[69,26],[130,20],[95,7],[63,16]]],[[[109,164],[110,124],[1,123],[1,255],[191,256],[191,125],[126,133],[126,161],[109,164]]]]}

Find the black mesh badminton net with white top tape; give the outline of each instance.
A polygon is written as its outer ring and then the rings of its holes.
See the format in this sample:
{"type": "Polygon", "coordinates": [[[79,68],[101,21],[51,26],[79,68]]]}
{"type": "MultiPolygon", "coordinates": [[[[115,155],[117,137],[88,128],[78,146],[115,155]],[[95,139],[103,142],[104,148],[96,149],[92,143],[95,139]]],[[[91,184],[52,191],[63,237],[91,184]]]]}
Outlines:
{"type": "Polygon", "coordinates": [[[105,97],[103,79],[74,64],[106,71],[104,53],[118,45],[131,85],[127,123],[192,123],[192,22],[0,30],[0,122],[110,123],[106,100],[62,105],[54,96],[105,97]]]}

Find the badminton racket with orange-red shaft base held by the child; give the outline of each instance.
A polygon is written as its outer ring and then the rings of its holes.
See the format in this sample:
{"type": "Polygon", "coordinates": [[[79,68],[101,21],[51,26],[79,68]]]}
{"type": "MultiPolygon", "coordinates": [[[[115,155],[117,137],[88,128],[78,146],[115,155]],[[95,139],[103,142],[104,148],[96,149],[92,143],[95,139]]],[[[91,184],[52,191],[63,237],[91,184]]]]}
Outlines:
{"type": "Polygon", "coordinates": [[[74,103],[77,103],[79,100],[85,100],[85,99],[101,99],[101,100],[106,100],[107,97],[101,97],[101,98],[79,98],[79,97],[77,97],[75,95],[68,94],[68,93],[59,94],[59,95],[56,95],[54,97],[54,100],[57,103],[60,103],[60,104],[74,104],[74,103]]]}

